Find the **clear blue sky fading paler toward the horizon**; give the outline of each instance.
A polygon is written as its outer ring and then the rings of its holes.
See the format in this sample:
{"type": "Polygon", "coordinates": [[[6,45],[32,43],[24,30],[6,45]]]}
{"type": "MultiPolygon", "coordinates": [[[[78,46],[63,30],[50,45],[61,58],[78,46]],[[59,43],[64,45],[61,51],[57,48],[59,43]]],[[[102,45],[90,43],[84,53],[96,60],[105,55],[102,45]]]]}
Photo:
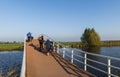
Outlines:
{"type": "Polygon", "coordinates": [[[80,41],[85,28],[120,40],[120,0],[0,0],[0,41],[23,41],[27,32],[80,41]]]}

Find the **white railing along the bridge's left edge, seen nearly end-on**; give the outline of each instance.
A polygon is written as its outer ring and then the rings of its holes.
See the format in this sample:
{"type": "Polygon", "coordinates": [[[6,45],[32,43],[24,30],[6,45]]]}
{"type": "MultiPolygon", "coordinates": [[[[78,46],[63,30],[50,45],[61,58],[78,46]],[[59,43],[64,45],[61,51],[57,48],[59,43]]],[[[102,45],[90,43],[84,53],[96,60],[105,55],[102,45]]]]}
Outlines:
{"type": "Polygon", "coordinates": [[[24,40],[24,52],[20,77],[25,77],[25,73],[26,73],[26,39],[24,40]]]}

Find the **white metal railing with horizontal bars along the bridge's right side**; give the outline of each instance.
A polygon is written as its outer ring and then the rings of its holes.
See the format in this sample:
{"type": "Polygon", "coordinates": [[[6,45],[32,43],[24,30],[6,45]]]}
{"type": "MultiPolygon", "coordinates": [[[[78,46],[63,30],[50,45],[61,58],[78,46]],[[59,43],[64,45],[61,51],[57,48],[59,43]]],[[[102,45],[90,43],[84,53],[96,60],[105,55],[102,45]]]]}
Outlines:
{"type": "MultiPolygon", "coordinates": [[[[57,53],[60,54],[60,49],[59,49],[59,48],[58,48],[58,50],[57,50],[57,53]]],[[[112,60],[115,60],[115,61],[120,62],[120,59],[119,59],[119,58],[114,58],[114,57],[109,57],[109,56],[104,56],[104,55],[89,53],[89,52],[85,52],[85,51],[82,51],[82,50],[79,50],[79,49],[71,49],[71,55],[68,55],[65,48],[62,49],[62,56],[63,56],[63,58],[65,58],[65,56],[69,57],[69,58],[71,59],[71,63],[73,63],[74,60],[75,60],[75,61],[83,64],[85,71],[87,71],[87,66],[89,66],[89,67],[91,67],[91,68],[93,68],[93,69],[95,69],[95,70],[98,70],[99,72],[102,72],[102,73],[107,74],[108,77],[111,77],[111,76],[113,76],[113,77],[118,77],[118,75],[112,74],[111,68],[120,70],[120,67],[111,65],[111,62],[112,62],[112,60]],[[78,54],[75,54],[74,51],[79,51],[80,53],[83,54],[83,56],[78,55],[78,54]],[[99,58],[106,58],[107,64],[104,63],[104,62],[99,62],[99,61],[96,61],[96,60],[92,60],[92,59],[90,59],[90,58],[87,57],[88,55],[97,56],[97,57],[99,57],[99,58]],[[84,61],[80,61],[80,60],[74,58],[74,56],[78,56],[78,57],[82,58],[84,61]],[[102,69],[99,69],[99,68],[97,68],[97,67],[94,67],[94,66],[88,64],[87,61],[91,61],[91,62],[93,62],[93,63],[97,63],[97,64],[100,64],[100,65],[102,65],[102,66],[106,66],[106,67],[107,67],[107,71],[104,71],[104,70],[102,70],[102,69]]]]}

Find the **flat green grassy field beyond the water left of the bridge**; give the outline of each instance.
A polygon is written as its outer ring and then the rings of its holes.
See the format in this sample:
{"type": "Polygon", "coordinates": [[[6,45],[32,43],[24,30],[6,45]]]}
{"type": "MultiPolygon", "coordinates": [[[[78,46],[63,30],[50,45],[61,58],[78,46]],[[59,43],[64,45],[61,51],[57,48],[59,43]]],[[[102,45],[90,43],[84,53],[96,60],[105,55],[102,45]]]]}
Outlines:
{"type": "Polygon", "coordinates": [[[0,43],[0,51],[13,51],[20,50],[24,48],[23,43],[0,43]]]}

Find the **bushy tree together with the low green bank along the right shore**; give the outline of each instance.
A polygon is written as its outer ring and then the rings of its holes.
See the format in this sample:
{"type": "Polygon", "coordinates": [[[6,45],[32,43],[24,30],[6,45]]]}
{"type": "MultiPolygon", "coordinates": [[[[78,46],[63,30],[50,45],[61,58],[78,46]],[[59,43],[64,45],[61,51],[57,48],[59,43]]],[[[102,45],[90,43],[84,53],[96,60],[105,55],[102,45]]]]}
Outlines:
{"type": "Polygon", "coordinates": [[[61,42],[72,48],[108,47],[120,46],[120,40],[101,41],[99,34],[94,28],[86,28],[80,37],[81,42],[61,42]]]}

